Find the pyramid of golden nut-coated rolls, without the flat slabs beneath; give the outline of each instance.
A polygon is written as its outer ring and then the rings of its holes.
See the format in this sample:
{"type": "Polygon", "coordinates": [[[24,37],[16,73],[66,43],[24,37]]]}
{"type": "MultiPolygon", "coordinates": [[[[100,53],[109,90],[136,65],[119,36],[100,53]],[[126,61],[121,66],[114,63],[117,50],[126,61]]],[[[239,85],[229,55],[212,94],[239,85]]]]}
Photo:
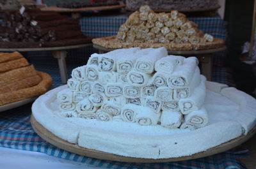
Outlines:
{"type": "Polygon", "coordinates": [[[139,43],[199,43],[213,41],[210,34],[203,34],[186,15],[173,10],[154,13],[149,6],[141,6],[120,26],[116,39],[120,42],[139,43]]]}

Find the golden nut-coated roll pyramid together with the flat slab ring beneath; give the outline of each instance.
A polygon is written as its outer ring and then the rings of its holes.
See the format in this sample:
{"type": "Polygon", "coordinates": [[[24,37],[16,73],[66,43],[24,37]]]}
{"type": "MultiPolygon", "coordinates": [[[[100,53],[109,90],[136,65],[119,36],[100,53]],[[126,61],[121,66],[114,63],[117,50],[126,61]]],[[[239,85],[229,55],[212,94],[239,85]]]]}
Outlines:
{"type": "Polygon", "coordinates": [[[224,41],[204,34],[186,15],[173,10],[155,13],[141,6],[120,26],[116,37],[93,39],[93,44],[105,48],[165,47],[168,50],[202,50],[219,48],[224,41]]]}

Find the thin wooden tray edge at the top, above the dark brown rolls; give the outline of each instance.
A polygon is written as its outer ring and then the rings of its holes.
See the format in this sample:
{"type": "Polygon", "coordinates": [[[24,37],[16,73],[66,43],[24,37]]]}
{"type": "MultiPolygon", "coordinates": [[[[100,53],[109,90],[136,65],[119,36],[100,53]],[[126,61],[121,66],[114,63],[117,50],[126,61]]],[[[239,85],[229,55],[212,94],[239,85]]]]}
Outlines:
{"type": "Polygon", "coordinates": [[[125,4],[116,4],[109,6],[93,6],[86,8],[58,8],[57,6],[49,6],[40,8],[42,11],[56,11],[56,12],[82,12],[82,11],[104,11],[104,10],[118,10],[124,8],[125,4]]]}

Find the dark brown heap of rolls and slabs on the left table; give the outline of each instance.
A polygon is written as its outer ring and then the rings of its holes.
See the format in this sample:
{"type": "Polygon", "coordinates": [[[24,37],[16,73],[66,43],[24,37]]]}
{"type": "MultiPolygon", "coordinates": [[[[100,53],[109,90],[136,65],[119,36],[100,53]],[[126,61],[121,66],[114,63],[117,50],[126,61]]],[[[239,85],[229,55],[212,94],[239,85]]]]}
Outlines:
{"type": "Polygon", "coordinates": [[[0,25],[1,48],[58,47],[90,41],[81,32],[78,20],[53,11],[6,11],[0,25]]]}

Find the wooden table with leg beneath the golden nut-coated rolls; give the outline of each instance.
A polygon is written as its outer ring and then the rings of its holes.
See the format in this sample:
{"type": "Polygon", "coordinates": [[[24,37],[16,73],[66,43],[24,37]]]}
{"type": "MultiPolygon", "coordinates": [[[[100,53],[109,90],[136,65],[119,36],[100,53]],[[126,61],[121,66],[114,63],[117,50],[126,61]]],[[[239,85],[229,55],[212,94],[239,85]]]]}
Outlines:
{"type": "MultiPolygon", "coordinates": [[[[109,52],[111,50],[115,50],[116,48],[104,48],[99,45],[94,45],[94,48],[99,50],[100,54],[104,52],[109,52]]],[[[201,63],[201,72],[208,81],[211,81],[212,78],[212,54],[216,52],[221,52],[226,50],[227,47],[207,49],[207,50],[191,50],[191,51],[172,51],[168,50],[168,54],[170,55],[195,55],[201,63]]]]}

